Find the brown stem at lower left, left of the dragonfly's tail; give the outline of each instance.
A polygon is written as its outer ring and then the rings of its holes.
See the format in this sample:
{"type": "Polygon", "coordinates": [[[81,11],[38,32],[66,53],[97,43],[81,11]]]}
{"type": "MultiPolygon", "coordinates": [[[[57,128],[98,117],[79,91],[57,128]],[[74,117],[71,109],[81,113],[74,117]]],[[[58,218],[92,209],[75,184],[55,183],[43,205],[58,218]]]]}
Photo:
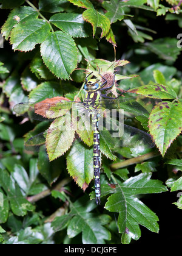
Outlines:
{"type": "Polygon", "coordinates": [[[49,196],[51,194],[52,190],[61,190],[61,188],[64,187],[64,185],[66,185],[67,183],[69,183],[70,180],[71,180],[70,177],[66,178],[64,180],[61,180],[61,182],[59,182],[55,187],[49,188],[48,190],[44,190],[39,194],[35,194],[35,196],[29,196],[29,197],[27,197],[27,200],[32,203],[37,202],[40,199],[42,199],[46,196],[49,196]]]}

